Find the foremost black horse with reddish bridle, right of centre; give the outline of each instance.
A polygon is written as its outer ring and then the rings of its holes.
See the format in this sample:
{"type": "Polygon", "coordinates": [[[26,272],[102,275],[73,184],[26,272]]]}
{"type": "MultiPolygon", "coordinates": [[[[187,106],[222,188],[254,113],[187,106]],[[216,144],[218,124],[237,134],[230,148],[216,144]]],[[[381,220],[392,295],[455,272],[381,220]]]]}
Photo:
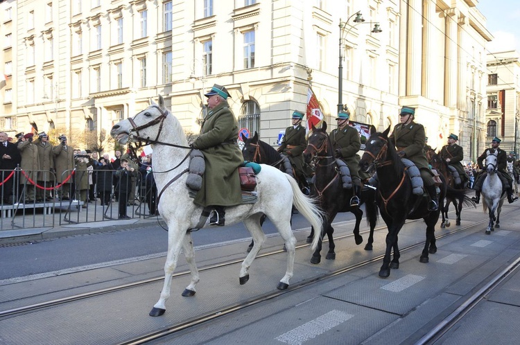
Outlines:
{"type": "MultiPolygon", "coordinates": [[[[428,211],[428,199],[422,195],[414,195],[412,183],[406,173],[406,167],[397,155],[394,145],[388,139],[390,127],[383,133],[373,133],[367,140],[365,153],[361,157],[360,166],[365,171],[376,170],[379,186],[376,193],[376,204],[379,213],[388,227],[386,236],[386,251],[383,265],[379,276],[386,278],[390,276],[390,268],[399,268],[399,247],[397,236],[407,219],[424,219],[426,222],[426,242],[419,261],[428,263],[428,253],[435,254],[435,224],[439,220],[440,208],[437,211],[428,211]],[[390,263],[390,255],[394,250],[394,258],[390,263]]],[[[462,197],[465,202],[471,204],[465,191],[440,186],[440,198],[448,196],[451,198],[462,197]]],[[[367,209],[367,213],[370,210],[367,209]]]]}

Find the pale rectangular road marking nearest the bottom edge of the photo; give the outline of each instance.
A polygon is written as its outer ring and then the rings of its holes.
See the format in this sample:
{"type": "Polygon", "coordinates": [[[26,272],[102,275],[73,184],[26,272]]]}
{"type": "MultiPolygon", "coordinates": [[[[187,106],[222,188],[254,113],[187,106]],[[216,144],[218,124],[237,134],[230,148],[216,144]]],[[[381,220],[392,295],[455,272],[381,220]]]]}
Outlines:
{"type": "Polygon", "coordinates": [[[331,310],[330,312],[327,312],[327,314],[306,322],[302,326],[298,326],[293,330],[289,330],[287,333],[279,335],[275,340],[289,345],[300,345],[307,340],[313,339],[318,335],[327,332],[327,330],[342,324],[348,319],[352,319],[352,317],[354,317],[352,314],[340,312],[339,310],[331,310]]]}

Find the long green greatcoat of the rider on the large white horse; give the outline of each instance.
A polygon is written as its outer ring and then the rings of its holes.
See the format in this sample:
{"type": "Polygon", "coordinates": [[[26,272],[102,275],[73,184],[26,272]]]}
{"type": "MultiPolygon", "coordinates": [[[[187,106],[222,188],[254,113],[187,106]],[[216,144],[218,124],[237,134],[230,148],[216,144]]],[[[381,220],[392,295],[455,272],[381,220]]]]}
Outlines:
{"type": "Polygon", "coordinates": [[[206,160],[202,188],[193,202],[199,206],[234,206],[241,204],[239,166],[244,159],[236,139],[239,123],[227,102],[210,109],[201,134],[193,148],[201,150],[206,160]]]}

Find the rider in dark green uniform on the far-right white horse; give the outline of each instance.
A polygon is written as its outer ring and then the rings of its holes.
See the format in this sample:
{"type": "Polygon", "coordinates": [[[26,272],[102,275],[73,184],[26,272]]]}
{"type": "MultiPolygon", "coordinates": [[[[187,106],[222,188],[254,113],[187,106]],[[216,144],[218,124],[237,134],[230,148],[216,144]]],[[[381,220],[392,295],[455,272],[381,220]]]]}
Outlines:
{"type": "Polygon", "coordinates": [[[483,161],[486,159],[488,153],[493,153],[494,151],[498,152],[498,156],[496,157],[496,170],[499,173],[500,181],[502,182],[502,186],[505,191],[508,193],[508,202],[511,204],[514,200],[517,200],[517,196],[513,196],[513,188],[512,188],[512,178],[509,177],[507,166],[508,166],[508,157],[505,154],[504,150],[499,148],[501,139],[496,136],[491,141],[491,148],[487,148],[483,154],[480,154],[480,157],[477,158],[478,167],[480,168],[480,172],[476,177],[474,183],[475,196],[471,197],[471,200],[476,202],[480,202],[480,190],[482,189],[482,185],[484,184],[485,177],[487,176],[487,171],[484,170],[483,161]]]}

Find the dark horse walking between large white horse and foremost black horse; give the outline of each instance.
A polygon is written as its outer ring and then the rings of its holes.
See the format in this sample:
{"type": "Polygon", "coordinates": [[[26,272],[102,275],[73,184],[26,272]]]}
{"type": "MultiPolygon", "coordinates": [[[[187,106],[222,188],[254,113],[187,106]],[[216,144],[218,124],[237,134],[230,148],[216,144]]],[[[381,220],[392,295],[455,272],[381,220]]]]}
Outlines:
{"type": "MultiPolygon", "coordinates": [[[[334,252],[334,240],[332,234],[334,232],[331,223],[339,212],[352,212],[356,216],[356,225],[354,226],[354,240],[356,245],[363,242],[363,236],[359,234],[359,224],[363,217],[363,210],[359,206],[350,206],[350,198],[352,190],[343,188],[343,182],[338,172],[336,159],[334,158],[332,143],[327,134],[327,123],[323,123],[321,128],[314,128],[311,136],[309,136],[309,145],[304,151],[305,160],[309,163],[315,162],[315,182],[311,187],[311,195],[318,198],[321,209],[326,213],[326,219],[323,222],[323,233],[320,236],[318,247],[313,253],[311,263],[320,263],[322,249],[322,238],[327,233],[329,238],[329,252],[325,258],[333,260],[336,258],[334,252]]],[[[372,250],[374,242],[374,227],[377,223],[377,208],[374,204],[375,191],[373,188],[363,188],[361,191],[360,205],[365,204],[365,209],[372,209],[367,215],[367,223],[370,225],[370,236],[365,245],[365,250],[372,250]]],[[[314,231],[314,229],[313,229],[314,231]]],[[[313,233],[311,233],[311,236],[313,233]]]]}

